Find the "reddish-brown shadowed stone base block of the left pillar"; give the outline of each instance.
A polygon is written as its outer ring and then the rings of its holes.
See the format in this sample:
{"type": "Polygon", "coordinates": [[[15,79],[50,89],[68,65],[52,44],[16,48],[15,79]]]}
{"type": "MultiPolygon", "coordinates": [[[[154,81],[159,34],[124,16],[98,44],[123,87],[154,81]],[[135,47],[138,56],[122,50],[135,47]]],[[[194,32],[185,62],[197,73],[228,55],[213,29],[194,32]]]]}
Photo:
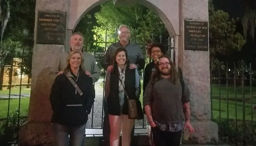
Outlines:
{"type": "Polygon", "coordinates": [[[19,130],[19,146],[54,145],[54,132],[50,122],[26,122],[19,130]]]}

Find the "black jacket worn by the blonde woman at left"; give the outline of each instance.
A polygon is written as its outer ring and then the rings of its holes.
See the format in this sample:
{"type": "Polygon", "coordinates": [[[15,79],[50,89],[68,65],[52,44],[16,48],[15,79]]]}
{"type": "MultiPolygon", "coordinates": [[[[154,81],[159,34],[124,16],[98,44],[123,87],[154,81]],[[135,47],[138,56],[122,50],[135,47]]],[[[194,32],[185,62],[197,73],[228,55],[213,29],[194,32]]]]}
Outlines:
{"type": "Polygon", "coordinates": [[[50,102],[52,107],[52,123],[68,126],[83,125],[88,121],[95,98],[92,78],[83,71],[74,77],[67,73],[83,92],[80,96],[66,74],[58,75],[52,85],[50,102]],[[77,79],[76,79],[77,78],[77,79]]]}

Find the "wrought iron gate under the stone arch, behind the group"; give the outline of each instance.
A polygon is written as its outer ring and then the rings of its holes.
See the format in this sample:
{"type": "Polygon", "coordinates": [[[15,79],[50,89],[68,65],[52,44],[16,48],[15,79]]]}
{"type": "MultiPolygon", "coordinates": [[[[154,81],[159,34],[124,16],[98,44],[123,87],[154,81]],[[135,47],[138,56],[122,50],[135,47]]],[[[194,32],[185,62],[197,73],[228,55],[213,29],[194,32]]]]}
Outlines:
{"type": "MultiPolygon", "coordinates": [[[[99,41],[99,40],[102,40],[102,39],[98,39],[98,32],[96,32],[95,40],[93,42],[86,42],[84,44],[94,44],[95,47],[98,47],[98,48],[94,48],[94,50],[96,49],[98,51],[100,51],[100,50],[106,51],[106,49],[111,44],[116,43],[118,41],[118,28],[115,28],[114,31],[110,31],[110,33],[108,33],[108,32],[109,32],[108,30],[105,30],[104,41],[99,41]],[[107,38],[108,36],[114,36],[114,38],[112,39],[113,40],[112,42],[108,41],[108,38],[107,38]]],[[[145,34],[145,32],[146,31],[144,31],[144,34],[145,34]]],[[[168,37],[167,39],[164,40],[162,38],[162,36],[154,36],[155,34],[151,33],[151,40],[150,41],[148,41],[148,40],[146,41],[145,36],[143,36],[144,34],[142,35],[140,41],[138,41],[138,37],[136,36],[136,34],[137,34],[136,30],[131,31],[131,42],[137,44],[141,48],[145,59],[147,58],[147,55],[146,55],[147,44],[149,42],[154,41],[154,42],[158,42],[158,43],[163,43],[165,45],[166,49],[167,49],[167,54],[170,56],[170,58],[172,60],[175,60],[174,59],[175,50],[174,50],[174,47],[173,47],[174,46],[173,37],[168,37]],[[154,38],[158,38],[158,39],[155,40],[154,38]]],[[[85,48],[88,48],[88,46],[85,46],[85,48]]],[[[86,50],[90,51],[90,49],[86,49],[86,50]]],[[[98,63],[98,66],[101,68],[100,61],[98,61],[97,63],[98,63]]],[[[102,68],[101,68],[101,70],[102,70],[101,78],[99,79],[98,83],[95,83],[96,98],[95,98],[95,102],[92,106],[92,114],[89,117],[88,124],[87,124],[87,128],[91,128],[91,129],[102,129],[102,127],[103,127],[103,115],[104,115],[104,110],[103,110],[104,109],[104,90],[103,90],[103,87],[104,87],[105,73],[106,72],[102,68]],[[101,80],[102,80],[102,82],[101,82],[101,80]],[[101,82],[100,83],[101,84],[101,89],[100,90],[98,90],[99,82],[101,82]],[[97,97],[97,96],[100,96],[101,98],[97,97]]],[[[141,81],[142,81],[143,71],[140,71],[139,73],[141,75],[141,81]]],[[[143,87],[143,86],[141,85],[141,87],[143,87]]],[[[142,99],[142,97],[141,97],[141,99],[142,99]]],[[[146,121],[144,119],[135,121],[135,128],[145,128],[145,126],[146,126],[146,121]]]]}

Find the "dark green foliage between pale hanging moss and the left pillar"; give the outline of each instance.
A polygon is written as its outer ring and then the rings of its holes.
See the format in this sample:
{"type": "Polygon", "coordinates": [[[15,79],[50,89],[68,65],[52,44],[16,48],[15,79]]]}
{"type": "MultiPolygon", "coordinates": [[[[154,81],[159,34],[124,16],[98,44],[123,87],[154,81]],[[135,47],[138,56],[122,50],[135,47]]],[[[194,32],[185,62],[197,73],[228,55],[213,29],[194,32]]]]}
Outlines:
{"type": "Polygon", "coordinates": [[[21,47],[14,48],[10,54],[23,59],[19,65],[23,66],[22,73],[29,77],[32,70],[35,5],[34,0],[10,0],[10,18],[4,33],[4,39],[20,42],[21,47]]]}

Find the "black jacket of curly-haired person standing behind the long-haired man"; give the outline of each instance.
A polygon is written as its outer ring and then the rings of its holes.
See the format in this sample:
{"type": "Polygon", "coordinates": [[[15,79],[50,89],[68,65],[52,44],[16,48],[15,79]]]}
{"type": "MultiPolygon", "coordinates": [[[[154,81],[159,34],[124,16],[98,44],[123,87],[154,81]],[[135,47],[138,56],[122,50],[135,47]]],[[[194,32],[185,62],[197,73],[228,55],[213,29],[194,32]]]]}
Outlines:
{"type": "Polygon", "coordinates": [[[143,77],[143,96],[144,96],[144,92],[146,89],[146,86],[148,84],[148,82],[151,79],[151,75],[152,75],[152,69],[155,69],[155,63],[154,61],[152,61],[151,63],[148,63],[145,67],[144,70],[144,77],[143,77]]]}

